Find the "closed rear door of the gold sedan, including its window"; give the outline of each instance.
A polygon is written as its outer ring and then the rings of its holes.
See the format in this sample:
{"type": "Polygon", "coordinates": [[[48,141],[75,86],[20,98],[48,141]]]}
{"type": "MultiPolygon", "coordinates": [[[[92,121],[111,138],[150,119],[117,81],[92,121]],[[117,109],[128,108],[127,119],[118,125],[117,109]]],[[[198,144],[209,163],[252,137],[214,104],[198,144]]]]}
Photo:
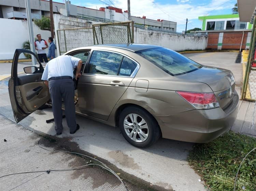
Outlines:
{"type": "MultiPolygon", "coordinates": [[[[139,69],[129,70],[129,74],[120,74],[125,70],[123,54],[106,50],[93,50],[78,83],[79,110],[88,116],[108,120],[118,100],[129,87],[139,69]],[[101,51],[103,53],[101,53],[101,51]],[[133,71],[135,71],[133,73],[133,71]]],[[[134,62],[134,61],[132,61],[134,62]]]]}

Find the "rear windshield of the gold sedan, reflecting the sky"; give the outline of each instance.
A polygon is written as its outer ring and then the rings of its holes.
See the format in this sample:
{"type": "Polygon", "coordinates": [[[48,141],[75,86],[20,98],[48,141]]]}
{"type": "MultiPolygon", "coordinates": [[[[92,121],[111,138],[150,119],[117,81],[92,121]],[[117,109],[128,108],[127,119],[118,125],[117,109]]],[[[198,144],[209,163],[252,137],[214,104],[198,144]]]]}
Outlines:
{"type": "Polygon", "coordinates": [[[136,53],[171,75],[193,72],[202,67],[193,60],[163,47],[140,50],[136,53]]]}

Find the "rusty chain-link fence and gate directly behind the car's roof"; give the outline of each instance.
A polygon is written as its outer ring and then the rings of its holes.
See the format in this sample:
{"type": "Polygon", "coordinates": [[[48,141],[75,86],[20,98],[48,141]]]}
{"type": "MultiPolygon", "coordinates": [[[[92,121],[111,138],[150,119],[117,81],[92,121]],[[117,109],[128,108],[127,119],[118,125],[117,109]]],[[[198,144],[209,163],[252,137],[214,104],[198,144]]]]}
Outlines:
{"type": "Polygon", "coordinates": [[[91,28],[57,30],[60,55],[74,48],[134,42],[133,22],[95,24],[91,28]]]}

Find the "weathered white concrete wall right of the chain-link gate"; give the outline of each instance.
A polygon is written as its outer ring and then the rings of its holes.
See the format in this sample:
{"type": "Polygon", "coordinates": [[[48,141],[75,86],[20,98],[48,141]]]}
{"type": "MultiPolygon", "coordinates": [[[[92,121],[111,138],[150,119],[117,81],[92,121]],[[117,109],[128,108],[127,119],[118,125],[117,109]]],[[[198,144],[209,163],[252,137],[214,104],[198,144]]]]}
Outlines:
{"type": "Polygon", "coordinates": [[[134,42],[163,46],[175,51],[205,50],[207,45],[207,37],[159,33],[134,28],[134,42]]]}

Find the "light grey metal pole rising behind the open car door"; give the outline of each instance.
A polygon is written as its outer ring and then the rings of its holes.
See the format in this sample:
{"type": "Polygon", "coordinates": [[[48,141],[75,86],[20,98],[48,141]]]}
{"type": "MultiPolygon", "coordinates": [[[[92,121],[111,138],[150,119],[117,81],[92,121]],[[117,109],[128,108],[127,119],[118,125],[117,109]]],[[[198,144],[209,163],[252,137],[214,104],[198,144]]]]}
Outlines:
{"type": "MultiPolygon", "coordinates": [[[[35,53],[34,33],[33,33],[33,25],[32,25],[32,18],[31,18],[30,0],[25,0],[25,4],[26,4],[27,21],[28,21],[30,50],[35,53]]],[[[32,58],[32,65],[35,66],[35,63],[37,61],[34,56],[31,56],[31,58],[32,58]]]]}

